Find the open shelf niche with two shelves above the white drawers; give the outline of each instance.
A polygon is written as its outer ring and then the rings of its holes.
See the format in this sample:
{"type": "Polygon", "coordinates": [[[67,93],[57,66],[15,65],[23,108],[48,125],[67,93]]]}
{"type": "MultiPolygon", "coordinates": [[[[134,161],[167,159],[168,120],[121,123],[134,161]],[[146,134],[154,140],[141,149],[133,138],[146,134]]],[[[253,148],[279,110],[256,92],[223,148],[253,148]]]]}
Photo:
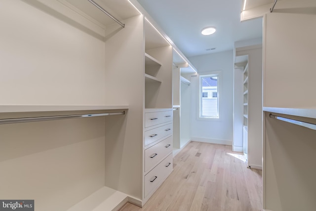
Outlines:
{"type": "Polygon", "coordinates": [[[172,46],[144,19],[145,108],[172,108],[172,46]]]}

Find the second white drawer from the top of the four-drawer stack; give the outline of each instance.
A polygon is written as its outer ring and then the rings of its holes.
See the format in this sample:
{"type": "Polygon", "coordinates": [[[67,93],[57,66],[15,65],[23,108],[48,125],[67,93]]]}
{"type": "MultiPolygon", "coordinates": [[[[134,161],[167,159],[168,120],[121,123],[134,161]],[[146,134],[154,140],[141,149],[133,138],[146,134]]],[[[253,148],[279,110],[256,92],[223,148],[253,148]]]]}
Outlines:
{"type": "Polygon", "coordinates": [[[172,124],[145,131],[145,146],[172,134],[172,124]]]}

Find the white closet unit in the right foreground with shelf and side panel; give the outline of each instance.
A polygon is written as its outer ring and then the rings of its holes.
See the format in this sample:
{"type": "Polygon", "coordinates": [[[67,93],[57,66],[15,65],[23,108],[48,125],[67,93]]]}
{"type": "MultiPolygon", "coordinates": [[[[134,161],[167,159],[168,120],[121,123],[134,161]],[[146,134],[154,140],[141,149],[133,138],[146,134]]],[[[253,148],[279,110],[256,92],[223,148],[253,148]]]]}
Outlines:
{"type": "Polygon", "coordinates": [[[264,209],[314,211],[316,131],[270,114],[316,124],[316,1],[276,6],[290,12],[264,16],[264,209]]]}

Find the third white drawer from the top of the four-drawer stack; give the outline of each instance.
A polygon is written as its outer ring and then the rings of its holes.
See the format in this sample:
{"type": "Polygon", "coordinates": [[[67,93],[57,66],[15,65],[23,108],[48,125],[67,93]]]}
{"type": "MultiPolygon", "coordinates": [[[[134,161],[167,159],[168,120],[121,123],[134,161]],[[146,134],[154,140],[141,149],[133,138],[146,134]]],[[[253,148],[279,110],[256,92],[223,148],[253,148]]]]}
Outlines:
{"type": "Polygon", "coordinates": [[[145,150],[145,172],[152,169],[158,162],[172,152],[172,136],[160,141],[145,150]]]}

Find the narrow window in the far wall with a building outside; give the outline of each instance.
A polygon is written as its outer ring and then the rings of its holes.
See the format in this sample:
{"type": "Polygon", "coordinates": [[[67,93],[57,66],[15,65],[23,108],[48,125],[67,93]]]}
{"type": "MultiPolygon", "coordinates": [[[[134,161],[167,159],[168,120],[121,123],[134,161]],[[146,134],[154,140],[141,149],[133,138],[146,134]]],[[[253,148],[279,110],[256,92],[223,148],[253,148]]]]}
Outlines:
{"type": "Polygon", "coordinates": [[[219,118],[218,74],[200,76],[200,118],[219,118]]]}

